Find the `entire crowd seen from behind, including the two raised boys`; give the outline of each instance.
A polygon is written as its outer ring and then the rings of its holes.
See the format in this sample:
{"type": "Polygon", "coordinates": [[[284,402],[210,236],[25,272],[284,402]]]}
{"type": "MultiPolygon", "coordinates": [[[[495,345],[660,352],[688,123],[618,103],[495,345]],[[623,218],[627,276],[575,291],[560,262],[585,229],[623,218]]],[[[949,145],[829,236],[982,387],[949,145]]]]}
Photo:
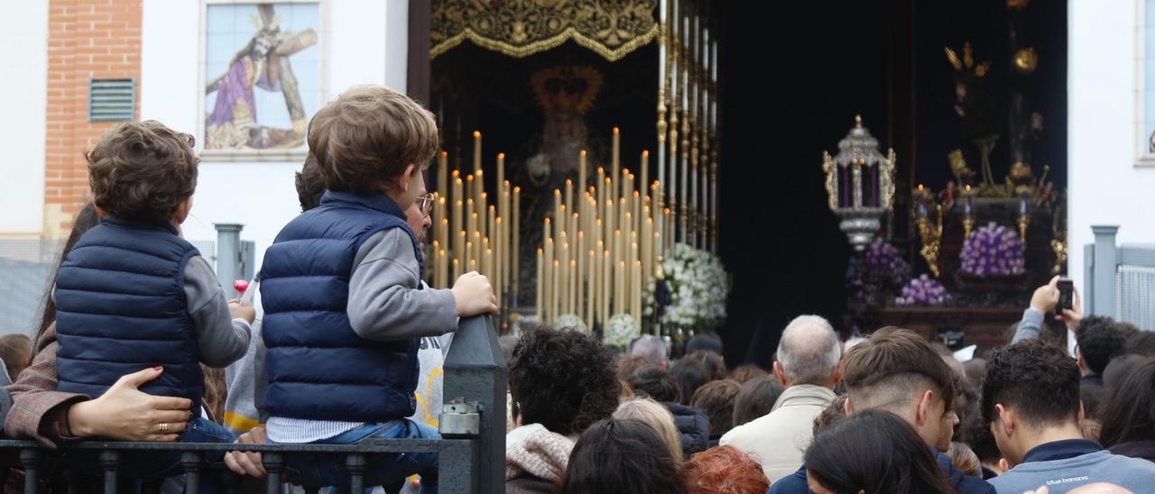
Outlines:
{"type": "MultiPolygon", "coordinates": [[[[118,125],[87,158],[75,218],[35,338],[0,339],[14,381],[5,434],[54,447],[126,441],[350,444],[435,439],[440,367],[459,317],[497,310],[489,280],[422,282],[433,115],[383,87],[326,105],[297,174],[301,215],[268,248],[255,304],[225,300],[180,234],[196,187],[192,139],[118,125]],[[224,368],[225,372],[219,369],[224,368]]],[[[961,362],[902,328],[842,340],[784,325],[770,369],[732,369],[722,339],[673,358],[624,353],[571,328],[505,336],[511,493],[1123,493],[1155,479],[1155,332],[1083,317],[1050,329],[1059,279],[1007,344],[961,362]]],[[[0,375],[0,379],[5,376],[0,375]]],[[[95,480],[100,465],[77,454],[95,480]]],[[[266,476],[255,452],[216,458],[266,476]]],[[[288,458],[288,480],[348,492],[343,465],[288,458]]],[[[374,455],[367,485],[435,492],[433,454],[374,455]]],[[[129,455],[137,478],[179,457],[129,455]]],[[[207,488],[213,488],[207,482],[207,488]]],[[[54,485],[49,479],[47,488],[54,485]]]]}

